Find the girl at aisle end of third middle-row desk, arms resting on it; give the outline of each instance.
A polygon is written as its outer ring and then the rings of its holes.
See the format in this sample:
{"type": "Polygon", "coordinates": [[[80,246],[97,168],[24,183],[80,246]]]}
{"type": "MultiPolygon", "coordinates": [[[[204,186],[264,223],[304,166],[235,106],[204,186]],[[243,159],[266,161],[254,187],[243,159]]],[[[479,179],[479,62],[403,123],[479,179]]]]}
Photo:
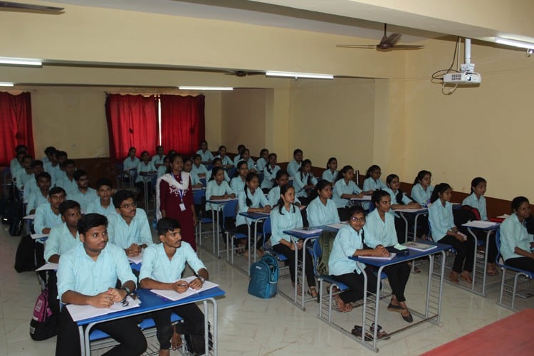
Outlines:
{"type": "MultiPolygon", "coordinates": [[[[239,213],[270,213],[271,206],[265,194],[259,189],[260,178],[256,172],[249,172],[246,175],[245,187],[242,194],[239,194],[239,213]]],[[[236,229],[241,234],[248,235],[248,226],[251,224],[251,219],[246,218],[241,214],[236,217],[236,229]]],[[[253,231],[253,230],[252,230],[253,231]]],[[[263,231],[263,223],[258,223],[258,231],[263,231]]],[[[256,237],[254,237],[255,239],[256,237]]],[[[261,241],[256,241],[256,253],[258,256],[263,256],[260,250],[261,241]]],[[[252,241],[251,246],[252,247],[252,241]]],[[[248,256],[246,256],[248,257],[248,256]]]]}

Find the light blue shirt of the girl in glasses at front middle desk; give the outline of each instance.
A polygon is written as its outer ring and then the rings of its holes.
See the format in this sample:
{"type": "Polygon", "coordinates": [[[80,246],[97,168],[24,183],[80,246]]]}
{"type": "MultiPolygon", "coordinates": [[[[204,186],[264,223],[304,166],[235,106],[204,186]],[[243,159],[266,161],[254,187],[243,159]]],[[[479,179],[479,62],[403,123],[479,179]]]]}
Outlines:
{"type": "Polygon", "coordinates": [[[349,225],[343,226],[340,231],[337,231],[332,251],[330,251],[330,257],[328,258],[328,273],[333,276],[341,276],[352,272],[362,273],[360,267],[365,268],[365,265],[349,259],[349,257],[354,256],[356,250],[363,249],[362,232],[363,229],[356,231],[349,225]]]}

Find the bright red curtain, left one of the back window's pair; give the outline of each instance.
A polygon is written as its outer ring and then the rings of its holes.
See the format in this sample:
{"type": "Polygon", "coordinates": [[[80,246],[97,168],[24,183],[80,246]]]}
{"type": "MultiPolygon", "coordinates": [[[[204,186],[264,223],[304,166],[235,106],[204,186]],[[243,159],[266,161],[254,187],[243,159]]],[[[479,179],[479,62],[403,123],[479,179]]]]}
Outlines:
{"type": "Polygon", "coordinates": [[[108,94],[105,100],[110,137],[110,157],[124,159],[130,147],[155,155],[157,145],[157,101],[154,95],[108,94]]]}

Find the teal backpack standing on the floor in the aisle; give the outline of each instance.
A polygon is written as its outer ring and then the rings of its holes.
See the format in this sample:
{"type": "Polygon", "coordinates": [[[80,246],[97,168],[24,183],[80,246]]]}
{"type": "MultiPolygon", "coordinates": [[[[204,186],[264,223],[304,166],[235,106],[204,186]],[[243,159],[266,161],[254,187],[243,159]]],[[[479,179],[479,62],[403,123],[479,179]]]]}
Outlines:
{"type": "Polygon", "coordinates": [[[265,255],[260,261],[252,263],[248,294],[258,298],[273,298],[278,288],[278,261],[265,255]]]}

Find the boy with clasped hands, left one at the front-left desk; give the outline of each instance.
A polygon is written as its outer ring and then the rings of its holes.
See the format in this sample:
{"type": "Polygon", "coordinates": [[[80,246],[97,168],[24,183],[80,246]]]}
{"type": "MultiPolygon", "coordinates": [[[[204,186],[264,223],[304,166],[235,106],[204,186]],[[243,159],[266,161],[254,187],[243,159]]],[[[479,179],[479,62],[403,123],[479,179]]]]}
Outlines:
{"type": "MultiPolygon", "coordinates": [[[[58,267],[58,295],[62,303],[109,308],[135,290],[136,278],[130,263],[113,244],[108,244],[108,219],[87,214],[78,222],[81,244],[64,253],[58,267]],[[115,288],[117,279],[122,283],[115,288]]],[[[121,318],[95,325],[119,342],[108,355],[141,355],[147,340],[137,327],[137,318],[121,318]]],[[[78,325],[68,308],[61,310],[56,355],[80,355],[78,325]]]]}

